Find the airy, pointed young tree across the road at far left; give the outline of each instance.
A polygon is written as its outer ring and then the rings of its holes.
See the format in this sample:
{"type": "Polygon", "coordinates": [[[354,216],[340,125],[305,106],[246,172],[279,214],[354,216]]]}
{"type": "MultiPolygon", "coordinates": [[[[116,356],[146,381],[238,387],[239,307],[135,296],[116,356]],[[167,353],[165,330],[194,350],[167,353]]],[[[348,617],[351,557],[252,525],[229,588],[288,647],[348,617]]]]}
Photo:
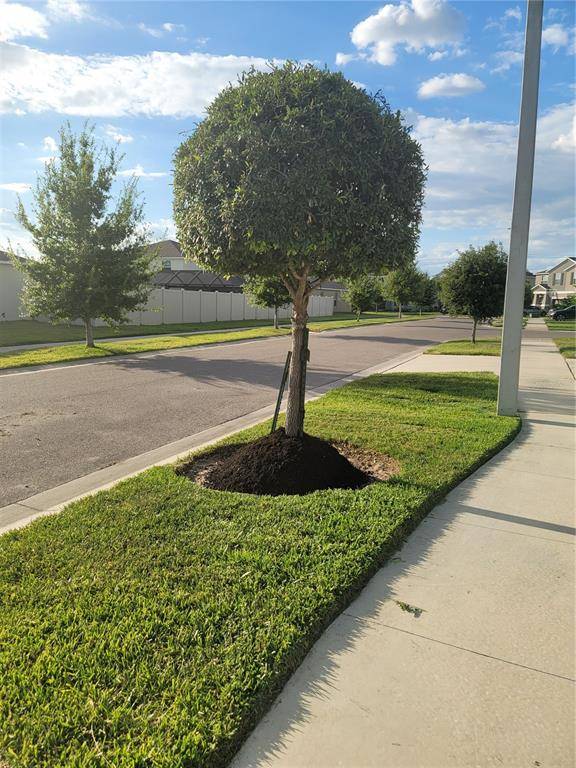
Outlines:
{"type": "Polygon", "coordinates": [[[17,219],[40,252],[39,260],[15,260],[25,274],[25,306],[32,317],[81,319],[88,347],[92,321],[125,321],[146,301],[153,274],[135,179],[109,208],[121,160],[116,148],[97,146],[93,128],[76,136],[65,125],[33,193],[35,220],[18,201],[17,219]]]}

